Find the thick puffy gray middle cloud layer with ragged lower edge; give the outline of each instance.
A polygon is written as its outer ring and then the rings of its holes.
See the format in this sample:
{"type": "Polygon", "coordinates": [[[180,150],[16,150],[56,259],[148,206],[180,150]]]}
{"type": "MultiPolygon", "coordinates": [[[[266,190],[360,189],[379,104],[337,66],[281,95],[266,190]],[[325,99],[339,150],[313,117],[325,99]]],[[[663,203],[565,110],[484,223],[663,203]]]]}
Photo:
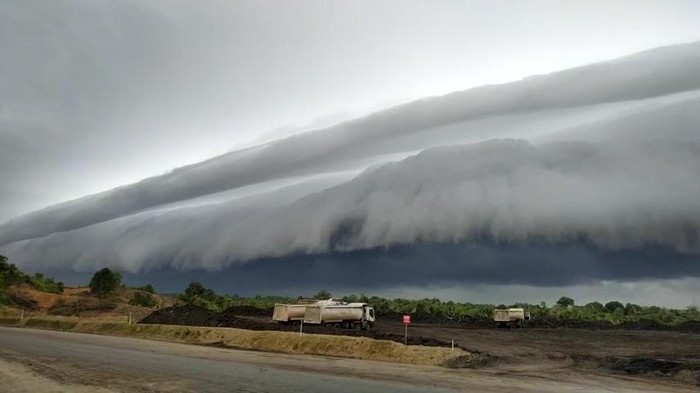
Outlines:
{"type": "MultiPolygon", "coordinates": [[[[244,200],[144,212],[0,252],[36,269],[110,264],[134,273],[420,243],[556,248],[579,242],[619,252],[660,248],[681,260],[700,254],[697,135],[432,148],[324,187],[301,182],[244,200]]],[[[559,260],[562,271],[572,269],[567,258],[559,260]]],[[[625,278],[620,269],[588,272],[625,278]]]]}

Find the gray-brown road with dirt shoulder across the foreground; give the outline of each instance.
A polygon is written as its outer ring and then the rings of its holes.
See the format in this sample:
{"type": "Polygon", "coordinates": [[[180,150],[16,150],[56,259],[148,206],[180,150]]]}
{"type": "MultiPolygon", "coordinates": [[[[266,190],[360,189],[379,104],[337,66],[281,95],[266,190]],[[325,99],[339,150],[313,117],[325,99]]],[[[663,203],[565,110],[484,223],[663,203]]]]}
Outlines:
{"type": "Polygon", "coordinates": [[[0,386],[32,392],[691,392],[629,377],[449,370],[0,328],[0,386]],[[100,388],[102,390],[98,390],[100,388]]]}

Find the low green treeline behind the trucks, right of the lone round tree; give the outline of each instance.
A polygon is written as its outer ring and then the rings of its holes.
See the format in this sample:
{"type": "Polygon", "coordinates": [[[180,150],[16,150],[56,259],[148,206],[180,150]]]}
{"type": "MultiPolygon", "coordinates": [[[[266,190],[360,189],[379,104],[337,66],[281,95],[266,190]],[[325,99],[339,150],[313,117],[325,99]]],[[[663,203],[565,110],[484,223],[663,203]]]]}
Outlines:
{"type": "MultiPolygon", "coordinates": [[[[328,299],[333,295],[327,291],[319,291],[313,296],[316,299],[328,299]]],[[[191,283],[185,292],[178,296],[186,303],[195,304],[212,311],[221,312],[229,307],[250,307],[266,310],[271,314],[275,303],[294,303],[296,298],[285,296],[255,296],[242,297],[238,295],[219,295],[205,288],[200,283],[191,283]]],[[[368,303],[374,307],[377,315],[383,318],[400,318],[410,314],[416,322],[470,323],[492,321],[493,310],[496,308],[522,307],[530,312],[533,321],[583,321],[607,322],[619,325],[637,321],[654,321],[663,325],[675,326],[685,322],[700,321],[700,311],[696,306],[685,309],[670,309],[658,306],[640,306],[619,301],[609,301],[605,304],[590,302],[576,305],[574,299],[562,297],[555,304],[548,306],[545,302],[539,304],[475,304],[469,302],[442,301],[440,299],[387,299],[379,296],[364,294],[338,297],[346,302],[368,303]]],[[[397,319],[398,320],[398,319],[397,319]]]]}

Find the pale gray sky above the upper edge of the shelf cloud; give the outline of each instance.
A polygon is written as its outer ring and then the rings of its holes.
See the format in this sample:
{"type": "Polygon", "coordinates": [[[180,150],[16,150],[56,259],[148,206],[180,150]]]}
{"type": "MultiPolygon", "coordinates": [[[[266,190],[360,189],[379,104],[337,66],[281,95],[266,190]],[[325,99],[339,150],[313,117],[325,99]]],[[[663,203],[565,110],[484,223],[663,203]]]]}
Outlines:
{"type": "Polygon", "coordinates": [[[696,1],[0,2],[0,221],[379,108],[700,39],[696,1]]]}

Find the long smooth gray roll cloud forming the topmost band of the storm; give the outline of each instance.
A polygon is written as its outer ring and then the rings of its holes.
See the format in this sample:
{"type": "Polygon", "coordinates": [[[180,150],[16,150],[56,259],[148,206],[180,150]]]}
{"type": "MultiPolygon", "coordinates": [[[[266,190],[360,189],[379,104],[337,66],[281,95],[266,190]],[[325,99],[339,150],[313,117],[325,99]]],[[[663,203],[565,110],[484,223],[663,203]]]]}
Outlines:
{"type": "Polygon", "coordinates": [[[400,148],[393,141],[448,124],[694,90],[700,87],[698,74],[700,43],[694,43],[425,99],[17,218],[0,227],[0,244],[73,230],[267,180],[347,168],[363,157],[396,153],[408,147],[419,149],[426,144],[425,135],[412,143],[404,141],[400,148]]]}

